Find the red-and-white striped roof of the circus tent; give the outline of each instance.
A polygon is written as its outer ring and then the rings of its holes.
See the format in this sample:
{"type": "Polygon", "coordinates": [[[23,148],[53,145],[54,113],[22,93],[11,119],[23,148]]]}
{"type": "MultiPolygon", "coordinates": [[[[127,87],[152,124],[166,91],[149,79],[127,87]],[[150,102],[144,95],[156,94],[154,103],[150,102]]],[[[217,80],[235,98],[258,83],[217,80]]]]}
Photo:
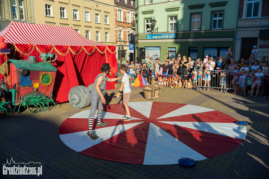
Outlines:
{"type": "Polygon", "coordinates": [[[5,42],[10,44],[68,46],[105,45],[83,37],[72,27],[21,22],[11,22],[8,27],[0,32],[0,36],[4,37],[5,42]]]}

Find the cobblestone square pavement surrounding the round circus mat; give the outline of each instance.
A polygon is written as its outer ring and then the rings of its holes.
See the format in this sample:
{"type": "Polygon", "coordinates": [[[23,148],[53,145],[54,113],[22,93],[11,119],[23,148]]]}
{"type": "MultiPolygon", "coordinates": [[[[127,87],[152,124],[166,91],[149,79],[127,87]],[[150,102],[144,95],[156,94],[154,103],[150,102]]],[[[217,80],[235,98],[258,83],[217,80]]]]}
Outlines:
{"type": "MultiPolygon", "coordinates": [[[[118,85],[119,88],[120,85],[118,85]]],[[[107,104],[118,103],[118,89],[108,90],[107,104]]],[[[130,102],[148,101],[142,88],[132,88],[130,102]]],[[[40,113],[10,114],[0,119],[0,161],[40,162],[42,178],[267,178],[269,176],[269,100],[224,94],[217,90],[195,91],[162,88],[154,101],[185,103],[218,110],[247,121],[242,145],[224,155],[197,161],[185,169],[174,165],[136,165],[91,158],[68,148],[59,138],[61,123],[80,111],[63,103],[40,113]]],[[[2,171],[1,171],[2,172],[2,171]]],[[[4,176],[18,178],[18,176],[4,176]]],[[[29,176],[19,176],[28,178],[29,176]]],[[[33,177],[33,176],[31,176],[33,177]]],[[[1,177],[2,178],[2,177],[1,177]]],[[[36,178],[39,178],[36,176],[36,178]]]]}

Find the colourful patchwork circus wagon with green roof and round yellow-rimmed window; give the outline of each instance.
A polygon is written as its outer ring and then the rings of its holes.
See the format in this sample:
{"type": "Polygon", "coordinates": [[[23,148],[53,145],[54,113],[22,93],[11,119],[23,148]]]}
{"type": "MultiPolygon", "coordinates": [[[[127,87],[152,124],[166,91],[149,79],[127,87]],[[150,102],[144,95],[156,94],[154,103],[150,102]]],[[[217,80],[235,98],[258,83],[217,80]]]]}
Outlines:
{"type": "Polygon", "coordinates": [[[1,71],[9,86],[10,102],[15,108],[27,106],[30,112],[46,110],[49,103],[54,103],[52,94],[57,69],[51,63],[37,62],[36,59],[34,56],[28,56],[28,60],[9,59],[7,72],[1,71]]]}

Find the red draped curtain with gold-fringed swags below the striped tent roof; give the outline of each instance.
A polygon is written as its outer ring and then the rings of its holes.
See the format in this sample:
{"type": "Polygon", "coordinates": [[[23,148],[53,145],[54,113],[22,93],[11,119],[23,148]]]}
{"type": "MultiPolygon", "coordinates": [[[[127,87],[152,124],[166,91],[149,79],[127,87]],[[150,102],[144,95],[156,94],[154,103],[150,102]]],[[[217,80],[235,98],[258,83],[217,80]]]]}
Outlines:
{"type": "MultiPolygon", "coordinates": [[[[11,48],[11,45],[9,45],[8,47],[11,48]]],[[[28,47],[20,46],[20,48],[24,49],[24,53],[26,53],[26,50],[30,49],[31,46],[32,45],[29,45],[28,47]]],[[[38,46],[39,50],[42,49],[45,50],[45,52],[50,52],[49,49],[51,48],[52,47],[49,45],[38,46]]],[[[70,48],[73,52],[76,52],[79,50],[80,47],[73,46],[70,48]]],[[[94,46],[86,46],[86,48],[87,52],[92,52],[94,50],[94,46]]],[[[66,53],[66,51],[68,50],[68,46],[62,46],[62,48],[61,46],[57,46],[56,49],[60,53],[66,53]]],[[[113,54],[111,55],[110,52],[108,53],[108,50],[105,54],[101,54],[100,52],[95,50],[94,53],[91,55],[87,55],[84,50],[82,50],[77,55],[68,52],[66,55],[63,56],[56,52],[55,49],[53,49],[51,53],[56,53],[58,55],[57,60],[52,63],[52,65],[54,65],[58,69],[53,90],[53,98],[55,98],[56,102],[58,103],[68,101],[68,93],[72,87],[78,85],[84,85],[87,87],[89,84],[94,83],[95,77],[100,73],[100,68],[102,67],[102,64],[107,63],[106,55],[110,56],[109,62],[111,62],[111,64],[116,64],[116,56],[114,55],[113,57],[113,54]],[[115,62],[112,62],[113,59],[115,60],[115,62]]],[[[40,53],[36,48],[34,48],[34,50],[29,55],[37,56],[37,61],[42,62],[39,57],[40,53]]],[[[9,59],[9,56],[7,57],[9,59]]],[[[14,59],[25,60],[27,59],[27,55],[22,55],[19,52],[16,52],[14,59]]],[[[5,62],[5,55],[0,55],[0,63],[2,64],[3,62],[5,62]]],[[[108,77],[115,78],[115,74],[112,76],[109,74],[108,77]]],[[[2,75],[0,76],[0,79],[3,79],[2,75]]],[[[115,84],[116,82],[107,82],[106,89],[115,89],[115,84]]]]}

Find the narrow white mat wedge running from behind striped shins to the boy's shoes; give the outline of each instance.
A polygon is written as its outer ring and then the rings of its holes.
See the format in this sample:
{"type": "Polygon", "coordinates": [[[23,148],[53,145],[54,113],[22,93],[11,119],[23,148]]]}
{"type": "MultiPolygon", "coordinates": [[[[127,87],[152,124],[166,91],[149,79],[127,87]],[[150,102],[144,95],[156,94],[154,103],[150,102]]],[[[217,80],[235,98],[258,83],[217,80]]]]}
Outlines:
{"type": "MultiPolygon", "coordinates": [[[[77,114],[74,114],[70,118],[82,118],[82,119],[85,119],[86,118],[86,119],[88,119],[89,118],[89,115],[90,115],[90,111],[91,110],[88,109],[88,110],[79,112],[77,114]]],[[[97,112],[98,112],[98,110],[96,110],[93,119],[97,119],[97,112]]],[[[116,114],[116,113],[111,113],[111,112],[103,111],[102,112],[101,119],[123,119],[122,117],[123,117],[122,114],[116,114]]],[[[132,117],[132,119],[138,119],[138,118],[132,117]]],[[[138,120],[142,120],[142,119],[138,119],[138,120]]]]}

